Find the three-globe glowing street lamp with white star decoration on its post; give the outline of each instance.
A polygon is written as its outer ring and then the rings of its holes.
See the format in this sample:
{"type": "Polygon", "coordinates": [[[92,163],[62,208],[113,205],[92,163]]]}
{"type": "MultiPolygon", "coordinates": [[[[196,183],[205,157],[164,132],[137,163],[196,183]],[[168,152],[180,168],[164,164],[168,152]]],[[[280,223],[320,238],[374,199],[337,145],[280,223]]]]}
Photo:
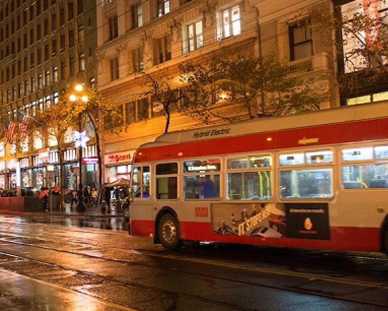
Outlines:
{"type": "MultiPolygon", "coordinates": [[[[87,103],[89,101],[89,98],[85,94],[81,94],[83,87],[81,85],[75,86],[75,93],[69,95],[69,100],[72,103],[76,102],[83,102],[87,103]]],[[[74,147],[79,148],[79,167],[80,167],[80,183],[78,188],[78,210],[84,211],[85,210],[85,204],[83,203],[83,187],[82,187],[82,148],[86,147],[86,143],[90,140],[86,136],[86,131],[81,131],[81,112],[78,114],[78,131],[74,131],[73,139],[74,141],[74,147]]]]}

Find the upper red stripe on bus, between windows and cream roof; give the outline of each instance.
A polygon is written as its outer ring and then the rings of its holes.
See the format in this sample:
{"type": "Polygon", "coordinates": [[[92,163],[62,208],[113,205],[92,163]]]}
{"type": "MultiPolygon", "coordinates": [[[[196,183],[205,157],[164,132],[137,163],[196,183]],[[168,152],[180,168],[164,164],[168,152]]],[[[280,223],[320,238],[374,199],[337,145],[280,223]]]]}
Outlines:
{"type": "Polygon", "coordinates": [[[139,151],[142,154],[135,156],[135,162],[303,147],[299,140],[304,138],[318,138],[317,142],[308,143],[307,146],[386,139],[388,119],[327,124],[141,148],[139,151]]]}

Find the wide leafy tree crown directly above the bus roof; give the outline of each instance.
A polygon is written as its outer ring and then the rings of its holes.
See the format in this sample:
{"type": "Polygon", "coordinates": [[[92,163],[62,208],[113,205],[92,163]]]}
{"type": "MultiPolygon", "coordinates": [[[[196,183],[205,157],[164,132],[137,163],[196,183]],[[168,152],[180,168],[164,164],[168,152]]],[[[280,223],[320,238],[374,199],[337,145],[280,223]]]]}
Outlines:
{"type": "Polygon", "coordinates": [[[202,121],[237,121],[319,109],[319,98],[274,55],[213,56],[209,65],[180,67],[186,85],[182,111],[202,121]],[[234,109],[234,110],[233,110],[234,109]]]}

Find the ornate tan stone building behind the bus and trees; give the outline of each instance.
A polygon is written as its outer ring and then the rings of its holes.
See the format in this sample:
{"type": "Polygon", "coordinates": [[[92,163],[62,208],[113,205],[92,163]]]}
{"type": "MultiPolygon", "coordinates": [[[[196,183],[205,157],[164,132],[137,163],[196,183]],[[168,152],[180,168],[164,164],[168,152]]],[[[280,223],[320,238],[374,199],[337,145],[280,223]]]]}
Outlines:
{"type": "MultiPolygon", "coordinates": [[[[120,105],[127,124],[120,136],[105,137],[105,180],[128,178],[134,150],[163,133],[164,117],[151,96],[142,96],[149,83],[142,71],[178,81],[179,64],[206,62],[223,48],[231,55],[273,52],[289,63],[290,74],[319,84],[322,108],[336,106],[333,47],[318,44],[299,23],[309,7],[330,5],[327,0],[97,0],[98,89],[120,105]]],[[[172,115],[170,131],[193,126],[192,118],[172,115]]]]}

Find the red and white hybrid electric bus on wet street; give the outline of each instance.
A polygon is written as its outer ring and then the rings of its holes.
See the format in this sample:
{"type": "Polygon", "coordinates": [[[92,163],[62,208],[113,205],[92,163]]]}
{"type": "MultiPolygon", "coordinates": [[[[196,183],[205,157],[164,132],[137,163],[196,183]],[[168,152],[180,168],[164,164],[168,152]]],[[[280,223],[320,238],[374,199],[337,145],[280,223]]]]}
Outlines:
{"type": "Polygon", "coordinates": [[[388,104],[167,133],[132,166],[130,230],[184,240],[388,251],[388,104]]]}

